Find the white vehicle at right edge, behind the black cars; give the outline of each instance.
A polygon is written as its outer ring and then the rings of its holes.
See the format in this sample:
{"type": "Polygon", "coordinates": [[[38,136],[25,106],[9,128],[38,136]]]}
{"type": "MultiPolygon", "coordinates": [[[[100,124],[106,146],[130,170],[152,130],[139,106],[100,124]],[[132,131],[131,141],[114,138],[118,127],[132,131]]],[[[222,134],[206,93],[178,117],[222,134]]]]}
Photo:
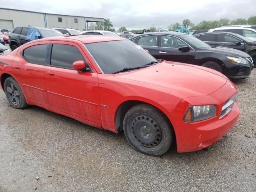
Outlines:
{"type": "Polygon", "coordinates": [[[215,29],[210,29],[208,32],[232,32],[242,35],[248,39],[256,41],[256,30],[246,27],[219,27],[215,29]]]}

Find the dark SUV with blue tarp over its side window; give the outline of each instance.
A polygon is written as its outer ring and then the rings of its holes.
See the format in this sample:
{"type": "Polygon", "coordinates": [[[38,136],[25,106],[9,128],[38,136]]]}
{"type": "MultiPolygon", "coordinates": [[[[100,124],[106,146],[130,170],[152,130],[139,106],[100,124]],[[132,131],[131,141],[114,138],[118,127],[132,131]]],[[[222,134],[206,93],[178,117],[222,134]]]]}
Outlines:
{"type": "Polygon", "coordinates": [[[54,37],[54,36],[62,36],[63,34],[54,29],[48,28],[39,28],[39,27],[31,27],[31,26],[17,26],[15,27],[10,34],[10,48],[15,50],[19,46],[29,42],[26,37],[28,36],[29,28],[34,28],[38,31],[38,38],[46,38],[46,37],[54,37]]]}

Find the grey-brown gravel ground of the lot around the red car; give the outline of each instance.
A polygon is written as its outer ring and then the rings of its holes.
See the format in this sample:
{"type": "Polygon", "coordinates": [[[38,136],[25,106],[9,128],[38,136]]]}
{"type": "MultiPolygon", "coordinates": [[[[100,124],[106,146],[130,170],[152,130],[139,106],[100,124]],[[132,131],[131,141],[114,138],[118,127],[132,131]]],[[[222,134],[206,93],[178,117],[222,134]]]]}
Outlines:
{"type": "Polygon", "coordinates": [[[0,90],[0,192],[256,191],[256,69],[236,80],[241,116],[208,151],[133,150],[124,134],[39,107],[10,107],[0,90]]]}

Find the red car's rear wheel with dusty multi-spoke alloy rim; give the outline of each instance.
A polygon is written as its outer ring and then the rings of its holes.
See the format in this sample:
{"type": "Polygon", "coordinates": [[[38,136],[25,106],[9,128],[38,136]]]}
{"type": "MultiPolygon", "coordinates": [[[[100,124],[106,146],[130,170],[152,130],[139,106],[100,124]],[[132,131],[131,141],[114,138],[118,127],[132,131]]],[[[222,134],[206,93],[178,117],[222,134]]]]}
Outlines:
{"type": "Polygon", "coordinates": [[[28,107],[22,90],[13,77],[8,77],[4,82],[4,92],[10,106],[16,109],[28,107]]]}

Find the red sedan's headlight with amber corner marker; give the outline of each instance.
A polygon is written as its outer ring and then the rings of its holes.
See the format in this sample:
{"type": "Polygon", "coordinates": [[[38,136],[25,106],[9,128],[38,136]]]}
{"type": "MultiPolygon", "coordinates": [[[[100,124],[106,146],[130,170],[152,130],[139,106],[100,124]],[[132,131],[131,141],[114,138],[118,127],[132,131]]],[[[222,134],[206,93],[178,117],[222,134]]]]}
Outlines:
{"type": "Polygon", "coordinates": [[[216,116],[214,105],[191,106],[187,109],[183,120],[185,122],[196,122],[216,116]]]}

